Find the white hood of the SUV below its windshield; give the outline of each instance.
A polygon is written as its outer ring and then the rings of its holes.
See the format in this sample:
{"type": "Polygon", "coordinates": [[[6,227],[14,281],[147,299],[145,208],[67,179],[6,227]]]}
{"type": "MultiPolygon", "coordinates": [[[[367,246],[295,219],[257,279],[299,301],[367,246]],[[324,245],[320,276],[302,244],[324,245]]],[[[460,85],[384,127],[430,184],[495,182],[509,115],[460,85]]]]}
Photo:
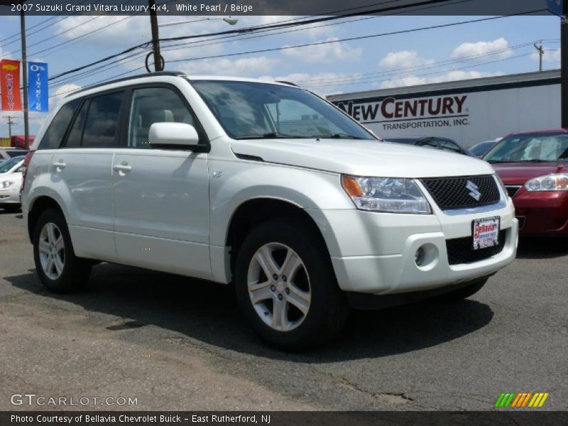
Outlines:
{"type": "Polygon", "coordinates": [[[237,155],[260,157],[268,163],[334,173],[388,178],[488,175],[485,161],[420,146],[352,139],[254,139],[233,141],[237,155]]]}

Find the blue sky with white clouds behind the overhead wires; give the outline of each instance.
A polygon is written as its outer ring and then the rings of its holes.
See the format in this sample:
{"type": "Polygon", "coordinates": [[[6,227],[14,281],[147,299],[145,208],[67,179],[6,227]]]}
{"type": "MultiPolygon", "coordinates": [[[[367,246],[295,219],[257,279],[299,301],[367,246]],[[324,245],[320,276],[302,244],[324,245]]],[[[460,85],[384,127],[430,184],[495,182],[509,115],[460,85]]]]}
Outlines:
{"type": "MultiPolygon", "coordinates": [[[[50,75],[70,70],[94,60],[119,53],[151,40],[148,16],[28,16],[28,60],[47,62],[50,75]],[[37,26],[40,24],[39,26],[37,26]],[[49,24],[49,25],[48,25],[49,24]],[[35,26],[35,28],[33,28],[35,26]]],[[[295,16],[238,16],[229,26],[221,19],[198,21],[197,16],[159,16],[160,24],[173,21],[195,22],[160,27],[160,38],[207,34],[233,28],[286,21],[295,16]]],[[[240,35],[225,40],[187,40],[192,44],[168,49],[162,43],[165,70],[188,75],[232,75],[263,80],[286,80],[320,94],[465,80],[538,70],[533,43],[545,48],[543,67],[560,65],[560,21],[556,16],[510,16],[493,21],[467,23],[361,40],[336,41],[376,35],[486,16],[360,16],[279,30],[262,37],[240,35]],[[283,33],[283,31],[287,31],[283,33]],[[332,42],[273,52],[234,55],[226,58],[205,56],[244,53],[251,50],[283,48],[306,43],[332,42]],[[178,62],[173,62],[178,61],[178,62]]],[[[0,59],[21,59],[19,18],[0,16],[0,59]]],[[[260,35],[260,34],[257,34],[260,35]]],[[[180,42],[178,42],[180,43],[180,42]]],[[[145,72],[148,50],[137,56],[107,65],[88,75],[70,75],[50,85],[50,108],[74,89],[145,72]]],[[[0,112],[0,137],[8,136],[7,116],[0,112]]],[[[12,134],[23,134],[23,114],[9,114],[16,122],[12,134]]],[[[46,114],[32,113],[31,134],[45,121],[46,114]]]]}

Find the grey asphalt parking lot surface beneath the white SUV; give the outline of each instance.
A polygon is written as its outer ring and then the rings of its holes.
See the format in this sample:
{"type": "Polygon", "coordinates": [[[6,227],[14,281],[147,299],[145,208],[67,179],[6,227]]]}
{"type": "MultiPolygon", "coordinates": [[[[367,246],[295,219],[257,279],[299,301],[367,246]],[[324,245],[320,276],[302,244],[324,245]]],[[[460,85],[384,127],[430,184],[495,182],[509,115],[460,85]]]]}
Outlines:
{"type": "Polygon", "coordinates": [[[0,410],[65,408],[16,393],[137,399],[105,410],[490,410],[510,391],[568,410],[567,300],[568,241],[521,240],[469,300],[354,312],[330,346],[286,354],[224,286],[103,263],[81,293],[47,293],[21,213],[0,209],[0,410]]]}

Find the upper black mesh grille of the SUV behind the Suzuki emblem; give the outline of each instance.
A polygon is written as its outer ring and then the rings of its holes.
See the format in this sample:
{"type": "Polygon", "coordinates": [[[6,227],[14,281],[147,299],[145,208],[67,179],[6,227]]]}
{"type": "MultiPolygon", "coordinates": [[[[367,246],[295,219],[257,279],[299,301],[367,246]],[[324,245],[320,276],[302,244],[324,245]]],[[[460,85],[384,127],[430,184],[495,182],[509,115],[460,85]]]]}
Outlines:
{"type": "Polygon", "coordinates": [[[497,182],[492,175],[464,176],[460,178],[430,178],[420,180],[442,210],[465,209],[496,204],[501,200],[497,182]],[[467,188],[471,181],[481,197],[476,200],[467,188]]]}

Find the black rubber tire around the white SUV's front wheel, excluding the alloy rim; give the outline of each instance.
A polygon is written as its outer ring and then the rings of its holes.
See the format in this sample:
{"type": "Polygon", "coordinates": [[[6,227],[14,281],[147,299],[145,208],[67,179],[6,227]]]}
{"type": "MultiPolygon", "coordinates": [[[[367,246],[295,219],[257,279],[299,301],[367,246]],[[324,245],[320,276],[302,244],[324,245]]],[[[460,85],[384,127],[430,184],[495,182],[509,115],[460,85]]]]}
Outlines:
{"type": "Polygon", "coordinates": [[[242,312],[263,339],[280,349],[316,346],[342,327],[346,304],[337,286],[329,254],[319,236],[301,222],[275,219],[258,225],[239,249],[235,269],[236,295],[242,312]],[[261,246],[268,243],[285,244],[293,249],[302,259],[310,278],[310,310],[305,320],[289,332],[279,332],[265,324],[249,297],[247,275],[251,259],[261,246]]]}

